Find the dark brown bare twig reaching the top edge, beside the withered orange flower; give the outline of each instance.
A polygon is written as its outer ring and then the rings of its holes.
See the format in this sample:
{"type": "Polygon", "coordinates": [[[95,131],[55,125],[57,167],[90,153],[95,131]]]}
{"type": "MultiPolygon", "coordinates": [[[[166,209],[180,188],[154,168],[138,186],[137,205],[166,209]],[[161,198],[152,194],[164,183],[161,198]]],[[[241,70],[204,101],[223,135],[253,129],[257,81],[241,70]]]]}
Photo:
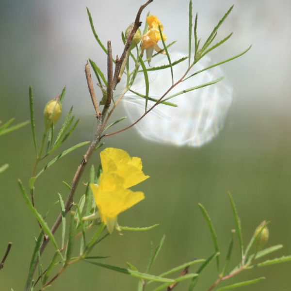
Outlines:
{"type": "Polygon", "coordinates": [[[115,63],[115,70],[114,70],[114,77],[113,77],[113,90],[115,90],[116,88],[116,85],[120,82],[120,76],[119,76],[119,73],[120,73],[120,69],[121,69],[121,65],[124,61],[124,59],[126,58],[128,52],[129,52],[129,48],[130,48],[130,44],[131,44],[131,41],[133,39],[133,36],[135,34],[135,32],[138,30],[138,28],[141,26],[141,22],[140,22],[140,16],[143,12],[143,10],[146,8],[146,6],[151,3],[153,0],[148,0],[144,5],[142,5],[140,7],[140,9],[138,10],[138,13],[135,17],[135,21],[134,21],[134,25],[133,25],[133,28],[131,30],[131,32],[129,33],[129,36],[126,40],[126,44],[125,44],[125,47],[124,47],[124,50],[123,50],[123,53],[120,57],[120,59],[118,59],[116,57],[116,63],[115,63]]]}

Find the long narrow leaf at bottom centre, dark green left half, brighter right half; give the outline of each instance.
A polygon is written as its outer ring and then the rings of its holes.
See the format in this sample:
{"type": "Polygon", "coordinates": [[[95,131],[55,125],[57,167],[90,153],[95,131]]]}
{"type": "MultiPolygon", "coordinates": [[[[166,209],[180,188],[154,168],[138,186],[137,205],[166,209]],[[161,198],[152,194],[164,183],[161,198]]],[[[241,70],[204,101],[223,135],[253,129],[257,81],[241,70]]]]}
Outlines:
{"type": "Polygon", "coordinates": [[[99,263],[99,262],[92,262],[92,261],[88,261],[85,260],[86,262],[90,263],[90,264],[94,264],[106,269],[110,269],[119,273],[123,273],[123,274],[127,274],[127,275],[131,275],[133,277],[136,278],[140,278],[140,279],[145,279],[145,280],[151,280],[151,281],[155,281],[155,282],[170,282],[170,283],[174,283],[175,280],[173,279],[169,279],[169,278],[162,278],[159,276],[155,276],[155,275],[150,275],[150,274],[146,274],[146,273],[140,273],[137,271],[133,271],[130,269],[126,269],[126,268],[120,268],[117,266],[113,266],[113,265],[108,265],[108,264],[103,264],[103,263],[99,263]]]}

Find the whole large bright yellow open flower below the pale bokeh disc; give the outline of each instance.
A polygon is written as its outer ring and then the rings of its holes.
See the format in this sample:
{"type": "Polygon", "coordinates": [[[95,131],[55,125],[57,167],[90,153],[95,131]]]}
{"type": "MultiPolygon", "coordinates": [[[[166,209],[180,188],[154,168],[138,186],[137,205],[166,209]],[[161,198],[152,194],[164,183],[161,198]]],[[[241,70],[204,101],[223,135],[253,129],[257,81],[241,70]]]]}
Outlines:
{"type": "Polygon", "coordinates": [[[103,172],[99,185],[90,184],[102,222],[110,233],[118,230],[117,215],[145,198],[144,193],[128,188],[148,178],[142,171],[140,158],[131,158],[118,148],[106,148],[100,153],[103,172]]]}

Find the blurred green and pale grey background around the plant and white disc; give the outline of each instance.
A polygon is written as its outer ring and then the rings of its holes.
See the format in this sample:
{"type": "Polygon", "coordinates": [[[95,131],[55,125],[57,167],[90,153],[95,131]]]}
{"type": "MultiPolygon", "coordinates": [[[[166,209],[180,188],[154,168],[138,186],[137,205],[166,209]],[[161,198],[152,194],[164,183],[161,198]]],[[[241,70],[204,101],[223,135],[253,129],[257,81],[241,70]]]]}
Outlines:
{"type": "MultiPolygon", "coordinates": [[[[104,262],[125,266],[127,261],[145,271],[150,242],[157,244],[166,235],[164,247],[152,273],[163,271],[194,258],[213,253],[210,234],[197,207],[202,203],[216,227],[222,252],[226,252],[234,221],[227,191],[233,194],[242,219],[246,243],[256,226],[271,221],[268,245],[282,243],[274,256],[291,253],[291,117],[290,117],[290,22],[289,1],[195,1],[199,12],[199,33],[206,35],[227,8],[235,3],[222,33],[235,35],[214,60],[233,55],[253,43],[241,59],[223,67],[235,90],[235,98],[225,128],[209,144],[200,148],[156,144],[139,137],[133,129],[105,140],[106,146],[120,147],[141,157],[150,179],[138,186],[146,199],[119,217],[125,226],[160,226],[149,232],[114,232],[100,243],[96,255],[110,255],[104,262]]],[[[0,1],[0,120],[29,119],[28,87],[33,88],[38,138],[43,130],[42,111],[64,85],[67,94],[64,112],[71,105],[81,118],[76,134],[67,147],[90,140],[94,133],[94,111],[86,88],[83,66],[92,57],[103,68],[106,58],[97,47],[89,27],[85,7],[91,10],[102,40],[111,39],[113,55],[120,54],[121,27],[133,20],[142,1],[0,1]],[[114,7],[114,9],[112,9],[114,7]],[[111,16],[109,18],[109,16],[111,16]]],[[[154,1],[150,11],[159,15],[168,38],[178,39],[176,49],[186,52],[188,1],[154,1]],[[166,2],[166,3],[165,3],[166,2]],[[182,5],[183,4],[183,5],[182,5]],[[172,21],[171,17],[176,21],[172,21]],[[185,30],[183,32],[183,30],[185,30]],[[180,36],[185,38],[180,39],[180,36]]],[[[222,34],[224,35],[224,34],[222,34]]],[[[122,109],[116,115],[123,116],[122,109]]],[[[62,147],[65,149],[65,147],[62,147]]],[[[57,201],[57,193],[67,190],[85,148],[66,156],[47,171],[36,185],[36,204],[41,213],[57,201]]],[[[17,187],[17,178],[27,185],[34,150],[31,130],[24,129],[1,137],[0,164],[10,167],[0,175],[0,256],[9,241],[12,251],[0,271],[0,290],[21,290],[38,233],[31,212],[17,187]]],[[[98,165],[98,153],[92,161],[98,165]]],[[[81,182],[86,182],[88,169],[81,182]]],[[[80,183],[77,197],[84,192],[80,183]]],[[[53,223],[57,207],[49,215],[53,223]]],[[[59,233],[58,233],[59,235],[59,233]]],[[[237,247],[237,242],[236,242],[237,247]]],[[[48,247],[45,258],[52,254],[48,247]]],[[[274,257],[273,256],[273,257],[274,257]]],[[[272,257],[272,256],[271,256],[272,257]]],[[[232,264],[236,264],[238,252],[232,264]]],[[[291,290],[290,264],[246,271],[232,280],[266,276],[251,288],[241,290],[291,290]]],[[[194,271],[194,268],[192,269],[194,271]]],[[[199,279],[197,290],[206,290],[216,280],[213,263],[199,279]]],[[[230,281],[229,281],[230,282],[230,281]]],[[[51,290],[136,290],[137,279],[81,262],[71,266],[51,290]]],[[[177,290],[186,290],[178,285],[177,290]]]]}

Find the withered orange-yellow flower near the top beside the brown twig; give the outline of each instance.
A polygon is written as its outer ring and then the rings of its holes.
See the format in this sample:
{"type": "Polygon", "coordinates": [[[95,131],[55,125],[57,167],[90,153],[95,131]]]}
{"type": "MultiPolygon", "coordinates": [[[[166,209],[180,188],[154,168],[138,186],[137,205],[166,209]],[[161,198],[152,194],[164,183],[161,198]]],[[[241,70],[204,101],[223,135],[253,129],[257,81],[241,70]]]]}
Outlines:
{"type": "Polygon", "coordinates": [[[151,56],[153,55],[154,49],[158,52],[165,53],[159,46],[158,41],[159,40],[166,40],[167,36],[162,33],[162,38],[159,30],[159,26],[161,28],[161,31],[163,30],[163,26],[161,21],[157,16],[150,15],[146,17],[146,22],[148,24],[148,31],[145,35],[142,36],[142,54],[144,53],[144,50],[146,49],[146,58],[148,61],[150,61],[151,56]]]}

